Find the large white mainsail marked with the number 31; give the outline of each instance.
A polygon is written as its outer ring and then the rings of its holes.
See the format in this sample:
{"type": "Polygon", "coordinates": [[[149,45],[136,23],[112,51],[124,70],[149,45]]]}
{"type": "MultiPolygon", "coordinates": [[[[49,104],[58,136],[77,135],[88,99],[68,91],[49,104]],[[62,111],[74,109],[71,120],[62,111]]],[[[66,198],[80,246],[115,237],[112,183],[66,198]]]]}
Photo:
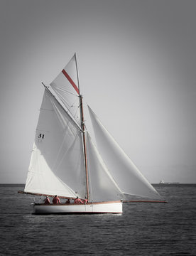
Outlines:
{"type": "Polygon", "coordinates": [[[25,192],[85,198],[80,129],[45,89],[25,192]]]}

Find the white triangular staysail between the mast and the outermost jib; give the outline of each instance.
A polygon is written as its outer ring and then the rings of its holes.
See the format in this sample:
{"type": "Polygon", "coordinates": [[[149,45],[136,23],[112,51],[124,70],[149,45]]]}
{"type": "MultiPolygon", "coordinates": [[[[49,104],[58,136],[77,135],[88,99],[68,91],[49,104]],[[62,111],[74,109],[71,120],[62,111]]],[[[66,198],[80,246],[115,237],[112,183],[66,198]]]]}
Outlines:
{"type": "Polygon", "coordinates": [[[115,201],[123,198],[119,186],[111,177],[99,152],[87,133],[87,163],[90,201],[115,201]]]}

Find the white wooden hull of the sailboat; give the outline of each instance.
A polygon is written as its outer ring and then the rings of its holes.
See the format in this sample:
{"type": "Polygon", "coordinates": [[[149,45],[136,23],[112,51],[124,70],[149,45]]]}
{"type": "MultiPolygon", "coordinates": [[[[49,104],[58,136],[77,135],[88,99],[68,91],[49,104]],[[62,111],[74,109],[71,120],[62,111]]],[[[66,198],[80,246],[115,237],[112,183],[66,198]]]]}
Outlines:
{"type": "Polygon", "coordinates": [[[35,214],[88,214],[88,213],[122,213],[122,202],[100,202],[100,203],[86,203],[86,204],[57,204],[45,205],[34,204],[33,213],[35,214]]]}

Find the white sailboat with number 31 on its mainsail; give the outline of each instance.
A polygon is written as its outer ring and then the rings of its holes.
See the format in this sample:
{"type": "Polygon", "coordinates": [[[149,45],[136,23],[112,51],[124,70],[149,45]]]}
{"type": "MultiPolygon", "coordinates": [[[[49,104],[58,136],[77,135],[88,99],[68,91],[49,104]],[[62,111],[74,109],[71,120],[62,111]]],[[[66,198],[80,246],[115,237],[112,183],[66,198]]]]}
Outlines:
{"type": "Polygon", "coordinates": [[[82,203],[33,203],[33,213],[122,213],[126,194],[163,200],[88,107],[97,145],[92,141],[76,54],[43,86],[26,186],[18,192],[82,203]]]}

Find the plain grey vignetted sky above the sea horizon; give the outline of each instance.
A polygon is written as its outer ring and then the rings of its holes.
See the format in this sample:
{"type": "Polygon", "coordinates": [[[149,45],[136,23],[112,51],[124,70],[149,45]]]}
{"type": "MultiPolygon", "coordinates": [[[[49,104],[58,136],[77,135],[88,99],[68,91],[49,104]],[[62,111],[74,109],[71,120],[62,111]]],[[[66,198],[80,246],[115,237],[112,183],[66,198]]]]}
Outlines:
{"type": "MultiPolygon", "coordinates": [[[[0,183],[24,183],[43,96],[84,100],[150,182],[196,182],[196,1],[0,1],[0,183]]],[[[87,122],[88,124],[88,122],[87,122]]]]}

